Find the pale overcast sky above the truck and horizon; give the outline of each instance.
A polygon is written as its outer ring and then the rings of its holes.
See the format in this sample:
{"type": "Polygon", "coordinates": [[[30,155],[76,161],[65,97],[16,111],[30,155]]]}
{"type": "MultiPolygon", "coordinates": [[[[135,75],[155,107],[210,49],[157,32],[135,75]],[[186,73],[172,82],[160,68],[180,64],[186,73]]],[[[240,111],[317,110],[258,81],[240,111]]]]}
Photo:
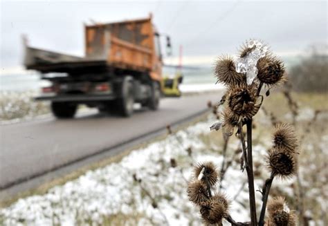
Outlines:
{"type": "Polygon", "coordinates": [[[327,1],[1,1],[1,67],[21,65],[21,34],[32,46],[82,56],[83,22],[149,12],[171,35],[174,53],[183,45],[184,56],[235,53],[249,38],[284,54],[327,43],[327,1]]]}

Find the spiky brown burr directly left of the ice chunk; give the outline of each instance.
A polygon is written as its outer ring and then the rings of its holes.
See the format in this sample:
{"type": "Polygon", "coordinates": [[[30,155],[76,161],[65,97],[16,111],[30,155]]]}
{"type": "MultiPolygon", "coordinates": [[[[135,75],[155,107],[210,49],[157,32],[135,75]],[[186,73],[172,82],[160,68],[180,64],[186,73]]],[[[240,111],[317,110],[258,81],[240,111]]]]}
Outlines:
{"type": "Polygon", "coordinates": [[[231,57],[220,57],[215,66],[215,76],[217,81],[227,86],[242,84],[246,77],[242,73],[237,73],[235,62],[231,57]]]}

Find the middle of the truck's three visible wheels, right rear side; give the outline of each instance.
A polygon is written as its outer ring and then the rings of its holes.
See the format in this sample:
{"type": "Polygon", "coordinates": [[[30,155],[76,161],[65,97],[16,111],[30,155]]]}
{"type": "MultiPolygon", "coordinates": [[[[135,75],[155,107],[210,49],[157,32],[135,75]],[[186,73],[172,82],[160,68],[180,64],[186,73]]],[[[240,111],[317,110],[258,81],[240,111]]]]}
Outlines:
{"type": "Polygon", "coordinates": [[[134,113],[134,86],[132,77],[125,77],[121,84],[121,97],[118,99],[118,113],[130,117],[134,113]]]}

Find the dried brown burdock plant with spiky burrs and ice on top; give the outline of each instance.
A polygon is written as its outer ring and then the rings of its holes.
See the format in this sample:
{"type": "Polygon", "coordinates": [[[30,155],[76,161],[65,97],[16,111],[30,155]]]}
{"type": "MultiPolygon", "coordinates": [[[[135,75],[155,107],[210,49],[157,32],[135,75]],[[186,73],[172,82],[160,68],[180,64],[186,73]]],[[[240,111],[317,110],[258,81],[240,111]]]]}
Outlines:
{"type": "Polygon", "coordinates": [[[268,202],[274,178],[290,178],[297,171],[298,139],[289,124],[275,124],[273,144],[268,150],[266,162],[271,176],[262,187],[262,208],[257,218],[253,175],[252,129],[253,117],[264,100],[262,88],[267,88],[266,96],[273,86],[284,81],[284,65],[262,41],[246,41],[237,59],[224,56],[215,67],[217,81],[226,85],[226,93],[219,102],[219,122],[210,129],[221,129],[225,136],[235,135],[242,143],[241,169],[246,169],[250,205],[250,222],[237,223],[229,214],[229,201],[217,190],[219,173],[212,162],[202,162],[194,167],[193,179],[188,184],[188,197],[200,210],[206,225],[222,225],[228,220],[231,225],[295,225],[295,216],[286,207],[284,198],[272,198],[268,202]],[[246,133],[244,133],[246,126],[246,133]],[[214,192],[213,192],[214,191],[214,192]],[[268,214],[266,208],[268,203],[268,214]],[[266,218],[265,218],[266,217],[266,218]]]}

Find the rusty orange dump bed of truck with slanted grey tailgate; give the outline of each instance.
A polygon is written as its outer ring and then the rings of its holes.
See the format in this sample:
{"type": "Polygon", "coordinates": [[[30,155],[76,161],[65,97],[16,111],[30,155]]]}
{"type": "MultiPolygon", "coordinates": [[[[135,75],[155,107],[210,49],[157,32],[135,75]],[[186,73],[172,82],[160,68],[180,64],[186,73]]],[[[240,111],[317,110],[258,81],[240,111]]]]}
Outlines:
{"type": "MultiPolygon", "coordinates": [[[[144,73],[153,70],[155,64],[152,74],[159,74],[151,18],[85,26],[85,57],[33,48],[27,41],[24,44],[24,65],[41,73],[78,75],[116,69],[144,73]]],[[[154,79],[159,79],[158,75],[154,79]]]]}

